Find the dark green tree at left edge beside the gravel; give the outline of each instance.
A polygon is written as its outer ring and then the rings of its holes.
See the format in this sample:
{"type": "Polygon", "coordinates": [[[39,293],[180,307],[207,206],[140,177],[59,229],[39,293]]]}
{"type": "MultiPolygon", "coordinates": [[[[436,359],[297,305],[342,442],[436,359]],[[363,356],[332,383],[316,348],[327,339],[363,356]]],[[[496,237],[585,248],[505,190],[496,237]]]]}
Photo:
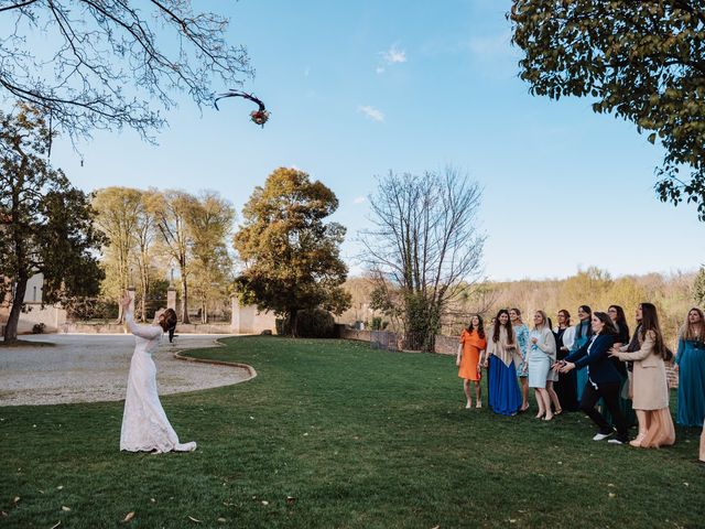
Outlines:
{"type": "Polygon", "coordinates": [[[88,196],[46,161],[51,132],[42,114],[0,114],[0,294],[11,296],[4,342],[17,339],[29,279],[44,276],[43,301],[91,295],[101,272],[88,196]],[[12,289],[8,289],[8,287],[12,289]]]}

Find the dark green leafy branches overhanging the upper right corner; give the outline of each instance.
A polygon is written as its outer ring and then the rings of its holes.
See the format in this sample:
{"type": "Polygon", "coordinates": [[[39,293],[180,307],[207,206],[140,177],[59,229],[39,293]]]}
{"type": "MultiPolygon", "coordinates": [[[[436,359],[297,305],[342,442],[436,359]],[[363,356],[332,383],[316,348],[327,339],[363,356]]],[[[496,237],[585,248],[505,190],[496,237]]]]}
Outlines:
{"type": "Polygon", "coordinates": [[[589,97],[664,149],[657,191],[705,220],[705,3],[514,0],[513,43],[532,94],[589,97]]]}

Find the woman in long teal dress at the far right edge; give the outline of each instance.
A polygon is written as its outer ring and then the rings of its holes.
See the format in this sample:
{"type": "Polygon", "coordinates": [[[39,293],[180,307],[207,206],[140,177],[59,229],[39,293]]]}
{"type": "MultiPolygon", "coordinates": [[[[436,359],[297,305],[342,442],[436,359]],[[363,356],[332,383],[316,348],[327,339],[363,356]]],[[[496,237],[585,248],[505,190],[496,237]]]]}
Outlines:
{"type": "Polygon", "coordinates": [[[685,325],[679,331],[679,352],[675,355],[679,374],[677,423],[703,427],[705,419],[705,317],[693,307],[685,325]]]}

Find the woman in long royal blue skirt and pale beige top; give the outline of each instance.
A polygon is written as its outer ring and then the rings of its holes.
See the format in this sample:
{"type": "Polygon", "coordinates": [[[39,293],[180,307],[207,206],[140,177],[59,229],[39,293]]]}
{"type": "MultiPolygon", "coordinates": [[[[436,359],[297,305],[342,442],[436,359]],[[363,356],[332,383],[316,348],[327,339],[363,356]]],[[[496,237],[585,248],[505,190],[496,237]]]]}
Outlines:
{"type": "Polygon", "coordinates": [[[521,407],[517,366],[522,358],[506,309],[497,313],[487,341],[487,355],[485,366],[489,368],[489,406],[495,413],[514,415],[521,407]]]}

